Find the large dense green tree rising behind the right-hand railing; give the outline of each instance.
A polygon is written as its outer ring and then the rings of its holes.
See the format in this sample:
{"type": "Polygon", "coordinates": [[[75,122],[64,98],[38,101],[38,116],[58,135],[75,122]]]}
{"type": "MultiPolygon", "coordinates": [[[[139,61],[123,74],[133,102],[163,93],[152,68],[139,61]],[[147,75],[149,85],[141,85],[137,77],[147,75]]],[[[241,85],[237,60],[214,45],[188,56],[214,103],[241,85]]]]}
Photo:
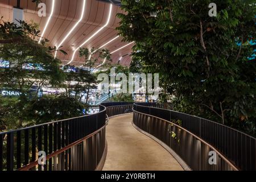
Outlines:
{"type": "Polygon", "coordinates": [[[135,41],[145,70],[160,73],[176,110],[241,129],[255,125],[256,64],[247,61],[255,1],[214,1],[217,17],[208,15],[210,3],[123,0],[117,30],[135,41]]]}

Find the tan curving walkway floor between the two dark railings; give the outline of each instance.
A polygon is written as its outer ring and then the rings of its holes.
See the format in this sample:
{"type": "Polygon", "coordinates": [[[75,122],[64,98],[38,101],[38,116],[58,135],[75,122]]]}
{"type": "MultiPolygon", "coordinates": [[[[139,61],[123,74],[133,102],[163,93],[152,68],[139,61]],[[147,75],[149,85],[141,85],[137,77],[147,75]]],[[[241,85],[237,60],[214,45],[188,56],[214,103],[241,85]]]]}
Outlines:
{"type": "Polygon", "coordinates": [[[160,144],[136,130],[132,119],[133,114],[110,118],[106,128],[108,155],[103,171],[183,170],[160,144]]]}

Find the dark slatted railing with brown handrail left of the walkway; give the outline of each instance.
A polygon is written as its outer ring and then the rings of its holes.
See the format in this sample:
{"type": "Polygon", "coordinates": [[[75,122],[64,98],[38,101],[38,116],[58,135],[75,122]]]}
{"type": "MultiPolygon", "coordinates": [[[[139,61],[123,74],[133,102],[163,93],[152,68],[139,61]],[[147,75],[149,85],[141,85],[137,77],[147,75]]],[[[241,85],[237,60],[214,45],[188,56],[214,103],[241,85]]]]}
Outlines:
{"type": "Polygon", "coordinates": [[[0,171],[100,169],[107,118],[101,106],[96,114],[0,133],[0,171]]]}

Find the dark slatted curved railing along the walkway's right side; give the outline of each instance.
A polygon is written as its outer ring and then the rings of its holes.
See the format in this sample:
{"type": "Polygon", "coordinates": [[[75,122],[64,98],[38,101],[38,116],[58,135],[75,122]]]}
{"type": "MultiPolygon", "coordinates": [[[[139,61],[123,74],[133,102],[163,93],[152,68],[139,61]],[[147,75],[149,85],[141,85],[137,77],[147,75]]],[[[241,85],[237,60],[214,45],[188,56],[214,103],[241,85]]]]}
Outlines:
{"type": "Polygon", "coordinates": [[[134,123],[170,146],[192,169],[256,168],[256,139],[220,123],[147,103],[134,104],[134,123]],[[216,152],[217,165],[209,166],[210,151],[216,152]]]}

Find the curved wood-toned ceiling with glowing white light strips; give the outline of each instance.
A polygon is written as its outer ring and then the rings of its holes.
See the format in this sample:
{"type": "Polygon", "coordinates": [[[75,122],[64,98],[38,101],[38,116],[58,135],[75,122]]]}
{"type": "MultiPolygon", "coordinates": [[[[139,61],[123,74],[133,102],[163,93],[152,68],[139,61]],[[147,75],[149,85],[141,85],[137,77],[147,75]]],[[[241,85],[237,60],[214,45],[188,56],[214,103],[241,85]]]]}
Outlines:
{"type": "MultiPolygon", "coordinates": [[[[59,43],[79,21],[82,13],[83,1],[84,0],[55,0],[55,9],[44,34],[44,36],[49,40],[50,46],[59,46],[59,43]]],[[[24,20],[26,20],[26,22],[32,21],[38,23],[41,31],[43,31],[47,20],[49,19],[53,1],[42,0],[42,2],[46,3],[46,17],[38,16],[37,13],[39,9],[36,7],[35,3],[32,3],[31,0],[20,1],[20,7],[24,9],[24,20]]],[[[13,18],[14,6],[16,6],[16,0],[1,0],[0,15],[3,16],[5,20],[11,21],[13,18]]],[[[82,43],[85,42],[85,40],[95,34],[96,31],[100,30],[100,28],[106,24],[109,9],[110,3],[96,0],[86,0],[84,16],[81,19],[81,22],[77,24],[76,28],[72,31],[68,38],[65,39],[65,42],[62,45],[63,47],[61,48],[64,49],[68,55],[65,56],[59,52],[57,53],[57,57],[63,62],[63,64],[67,64],[72,59],[73,49],[78,48],[82,43]]],[[[119,19],[116,17],[117,13],[123,13],[123,11],[119,8],[119,6],[113,5],[112,16],[110,16],[108,26],[103,28],[96,36],[89,40],[84,47],[89,49],[92,47],[98,48],[117,36],[118,32],[115,30],[119,23],[119,19]]],[[[110,52],[113,52],[127,44],[129,43],[122,42],[122,38],[119,37],[103,48],[107,48],[110,52]]],[[[132,52],[132,47],[133,44],[113,53],[113,63],[118,63],[119,58],[126,55],[119,62],[123,65],[129,65],[131,61],[129,55],[132,52]]],[[[104,60],[101,60],[100,62],[102,63],[102,61],[104,60]]],[[[83,64],[82,59],[78,55],[78,51],[71,64],[83,64]]]]}

